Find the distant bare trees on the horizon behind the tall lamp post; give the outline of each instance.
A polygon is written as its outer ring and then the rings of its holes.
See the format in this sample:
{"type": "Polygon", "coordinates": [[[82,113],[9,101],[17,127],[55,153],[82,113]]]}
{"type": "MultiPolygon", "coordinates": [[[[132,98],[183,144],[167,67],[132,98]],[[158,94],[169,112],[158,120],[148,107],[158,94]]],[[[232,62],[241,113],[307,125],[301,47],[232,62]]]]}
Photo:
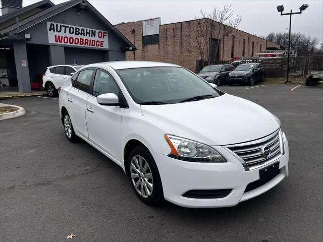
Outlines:
{"type": "MultiPolygon", "coordinates": [[[[260,37],[288,49],[288,32],[269,33],[260,37]]],[[[291,49],[297,49],[298,56],[322,55],[323,43],[319,44],[316,37],[306,36],[303,33],[291,33],[291,49]]]]}

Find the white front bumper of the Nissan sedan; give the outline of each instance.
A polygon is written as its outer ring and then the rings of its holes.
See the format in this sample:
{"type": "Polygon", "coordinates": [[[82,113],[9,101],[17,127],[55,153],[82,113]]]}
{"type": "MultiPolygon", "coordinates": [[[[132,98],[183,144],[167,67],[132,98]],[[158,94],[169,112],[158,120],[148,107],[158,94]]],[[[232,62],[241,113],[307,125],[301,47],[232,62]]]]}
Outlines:
{"type": "Polygon", "coordinates": [[[226,163],[196,163],[181,161],[164,154],[151,151],[163,184],[164,197],[167,201],[183,207],[213,208],[230,207],[239,202],[254,198],[275,187],[288,176],[289,149],[287,139],[284,141],[285,154],[266,166],[279,161],[280,173],[268,183],[244,192],[247,185],[259,179],[259,169],[245,171],[243,165],[226,148],[218,146],[217,150],[226,157],[226,163]],[[182,195],[190,190],[232,189],[224,198],[205,199],[187,198],[182,195]]]}

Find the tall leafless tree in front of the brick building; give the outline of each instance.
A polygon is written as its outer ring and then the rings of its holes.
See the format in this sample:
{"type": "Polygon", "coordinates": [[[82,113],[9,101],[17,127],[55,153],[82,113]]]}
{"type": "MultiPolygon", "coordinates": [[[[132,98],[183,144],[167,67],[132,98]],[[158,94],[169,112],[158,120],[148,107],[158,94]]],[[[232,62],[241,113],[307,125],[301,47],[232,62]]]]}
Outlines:
{"type": "Polygon", "coordinates": [[[239,26],[242,18],[241,16],[234,17],[234,10],[230,4],[222,9],[213,6],[210,13],[200,10],[194,19],[192,29],[202,66],[206,61],[207,65],[215,63],[220,43],[239,26]],[[211,51],[214,52],[211,53],[211,51]]]}

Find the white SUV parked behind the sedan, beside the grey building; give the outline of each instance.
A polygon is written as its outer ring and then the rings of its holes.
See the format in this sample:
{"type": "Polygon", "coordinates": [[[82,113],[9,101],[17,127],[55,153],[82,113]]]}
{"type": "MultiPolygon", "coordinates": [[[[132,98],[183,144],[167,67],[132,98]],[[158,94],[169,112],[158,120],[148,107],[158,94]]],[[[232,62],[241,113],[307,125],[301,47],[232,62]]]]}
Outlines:
{"type": "Polygon", "coordinates": [[[47,67],[47,71],[42,77],[42,87],[46,89],[48,96],[56,96],[58,88],[82,67],[70,65],[47,67]]]}

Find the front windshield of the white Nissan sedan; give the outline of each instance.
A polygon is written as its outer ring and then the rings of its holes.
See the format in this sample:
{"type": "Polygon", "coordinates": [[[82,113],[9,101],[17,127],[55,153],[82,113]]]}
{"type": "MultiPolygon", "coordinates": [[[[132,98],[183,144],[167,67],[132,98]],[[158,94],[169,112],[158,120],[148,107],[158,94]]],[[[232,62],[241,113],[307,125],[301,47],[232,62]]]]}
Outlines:
{"type": "Polygon", "coordinates": [[[133,68],[116,72],[139,104],[171,104],[224,94],[181,67],[133,68]]]}

